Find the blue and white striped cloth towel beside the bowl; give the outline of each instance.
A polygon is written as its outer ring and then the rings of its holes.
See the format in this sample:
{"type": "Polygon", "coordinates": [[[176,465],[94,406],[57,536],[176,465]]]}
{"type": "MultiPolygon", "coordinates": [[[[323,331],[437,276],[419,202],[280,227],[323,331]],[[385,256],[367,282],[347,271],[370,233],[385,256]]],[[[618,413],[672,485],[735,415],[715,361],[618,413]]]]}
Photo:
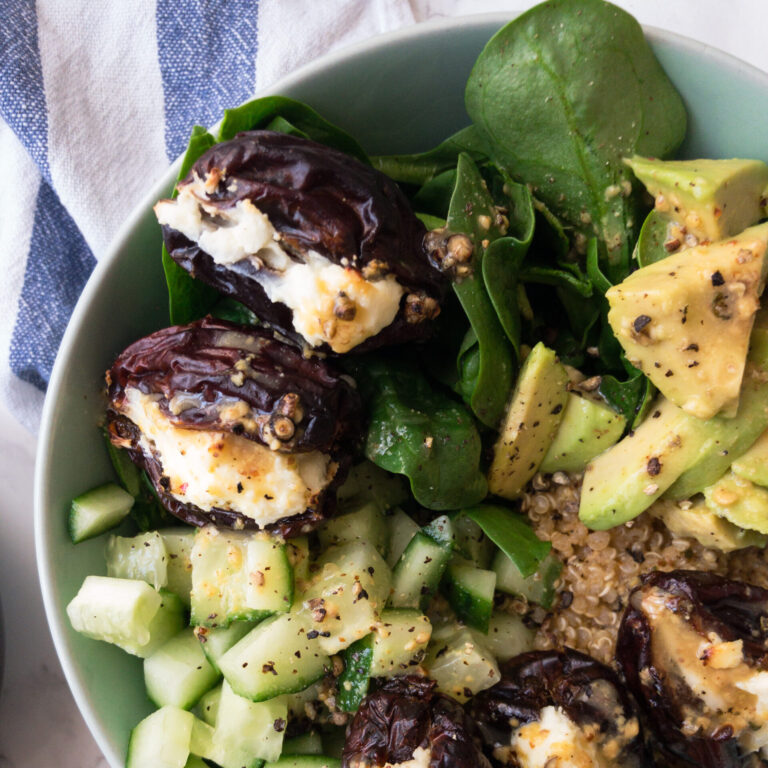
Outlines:
{"type": "Polygon", "coordinates": [[[408,0],[0,0],[0,399],[36,430],[77,298],[186,146],[408,0]]]}

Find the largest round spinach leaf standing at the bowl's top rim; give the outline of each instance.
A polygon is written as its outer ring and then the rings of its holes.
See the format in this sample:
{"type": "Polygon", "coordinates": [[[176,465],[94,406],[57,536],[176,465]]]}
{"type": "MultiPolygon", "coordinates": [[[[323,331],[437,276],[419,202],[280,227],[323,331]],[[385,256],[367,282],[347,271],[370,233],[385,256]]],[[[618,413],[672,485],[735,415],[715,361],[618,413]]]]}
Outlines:
{"type": "Polygon", "coordinates": [[[637,202],[622,157],[666,157],[686,128],[637,21],[604,0],[537,5],[491,38],[465,100],[492,157],[580,238],[596,234],[623,279],[637,202]]]}

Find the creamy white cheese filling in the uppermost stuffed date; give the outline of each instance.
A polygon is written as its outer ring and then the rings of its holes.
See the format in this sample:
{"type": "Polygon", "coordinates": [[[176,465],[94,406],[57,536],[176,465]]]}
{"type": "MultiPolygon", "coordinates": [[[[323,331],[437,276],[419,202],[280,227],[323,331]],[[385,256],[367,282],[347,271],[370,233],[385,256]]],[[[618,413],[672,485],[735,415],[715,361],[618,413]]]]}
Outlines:
{"type": "Polygon", "coordinates": [[[348,352],[395,319],[405,291],[394,275],[366,280],[358,270],[312,250],[297,260],[250,200],[219,208],[207,202],[206,188],[206,181],[195,176],[174,200],[155,205],[157,220],[197,243],[222,267],[250,261],[269,300],[291,310],[294,328],[310,346],[325,343],[339,354],[348,352]]]}

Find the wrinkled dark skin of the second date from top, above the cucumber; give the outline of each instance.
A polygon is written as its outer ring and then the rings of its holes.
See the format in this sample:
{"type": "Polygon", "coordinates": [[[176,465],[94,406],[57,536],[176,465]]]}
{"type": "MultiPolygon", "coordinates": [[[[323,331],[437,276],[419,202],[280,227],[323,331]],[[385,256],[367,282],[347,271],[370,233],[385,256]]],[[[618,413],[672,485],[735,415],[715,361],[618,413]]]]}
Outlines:
{"type": "Polygon", "coordinates": [[[177,427],[230,432],[281,453],[330,455],[338,470],[316,503],[267,526],[283,536],[304,533],[331,514],[332,491],[346,475],[364,426],[356,390],[327,363],[304,358],[264,330],[211,318],[131,344],[107,372],[107,384],[112,442],[147,471],[172,514],[197,526],[257,527],[237,512],[203,511],[167,492],[158,458],[142,450],[139,429],[123,412],[126,390],[158,395],[160,410],[177,427]],[[181,409],[174,407],[179,397],[181,409]]]}

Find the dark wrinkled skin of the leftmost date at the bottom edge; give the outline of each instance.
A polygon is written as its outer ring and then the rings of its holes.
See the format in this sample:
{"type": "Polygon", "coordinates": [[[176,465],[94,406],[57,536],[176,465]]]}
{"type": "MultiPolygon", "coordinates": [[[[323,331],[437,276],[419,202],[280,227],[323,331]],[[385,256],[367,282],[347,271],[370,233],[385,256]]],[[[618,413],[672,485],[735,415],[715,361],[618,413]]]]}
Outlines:
{"type": "Polygon", "coordinates": [[[417,747],[429,749],[429,768],[490,768],[477,726],[461,705],[435,692],[426,677],[387,680],[360,705],[347,731],[342,768],[397,765],[417,747]]]}

